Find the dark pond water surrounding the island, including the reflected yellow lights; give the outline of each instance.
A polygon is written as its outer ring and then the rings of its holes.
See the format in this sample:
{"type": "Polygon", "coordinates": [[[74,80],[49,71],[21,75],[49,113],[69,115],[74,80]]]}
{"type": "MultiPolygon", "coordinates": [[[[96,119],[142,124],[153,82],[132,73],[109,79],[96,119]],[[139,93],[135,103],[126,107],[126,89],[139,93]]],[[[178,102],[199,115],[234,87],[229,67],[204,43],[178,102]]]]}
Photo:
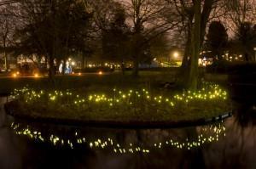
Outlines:
{"type": "Polygon", "coordinates": [[[236,107],[207,126],[139,130],[14,121],[1,106],[0,169],[256,168],[256,110],[236,107]]]}

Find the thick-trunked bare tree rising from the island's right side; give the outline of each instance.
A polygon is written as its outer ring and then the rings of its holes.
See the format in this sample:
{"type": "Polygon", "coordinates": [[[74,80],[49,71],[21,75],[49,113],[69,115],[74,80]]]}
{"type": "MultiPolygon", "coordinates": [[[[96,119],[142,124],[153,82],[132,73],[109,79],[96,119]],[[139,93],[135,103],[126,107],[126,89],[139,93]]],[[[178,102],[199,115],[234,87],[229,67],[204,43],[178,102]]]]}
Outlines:
{"type": "Polygon", "coordinates": [[[207,25],[211,19],[216,17],[212,13],[216,12],[221,0],[171,0],[169,2],[175,3],[182,26],[187,31],[182,66],[183,74],[180,81],[184,87],[194,90],[197,87],[199,77],[198,59],[205,39],[207,25]]]}

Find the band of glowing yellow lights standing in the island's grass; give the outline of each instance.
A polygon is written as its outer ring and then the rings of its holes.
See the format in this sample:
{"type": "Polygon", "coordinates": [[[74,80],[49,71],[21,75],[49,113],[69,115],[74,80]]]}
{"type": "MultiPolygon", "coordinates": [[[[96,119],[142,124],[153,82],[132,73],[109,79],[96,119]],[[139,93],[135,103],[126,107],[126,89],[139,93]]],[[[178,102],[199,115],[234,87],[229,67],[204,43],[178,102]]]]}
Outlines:
{"type": "MultiPolygon", "coordinates": [[[[189,105],[189,103],[198,103],[203,100],[227,99],[227,93],[218,87],[218,85],[210,85],[197,92],[186,91],[169,98],[163,95],[151,95],[146,89],[121,91],[116,88],[108,95],[95,93],[86,96],[85,94],[83,95],[83,93],[79,95],[70,91],[45,92],[44,90],[35,91],[24,87],[22,89],[15,89],[12,96],[14,99],[25,99],[26,103],[41,101],[44,98],[47,102],[66,100],[68,104],[77,107],[82,107],[83,105],[103,105],[106,108],[113,108],[117,105],[131,107],[134,105],[150,104],[154,106],[164,106],[165,109],[170,109],[180,104],[189,105]]],[[[62,101],[61,104],[63,104],[62,101]]]]}

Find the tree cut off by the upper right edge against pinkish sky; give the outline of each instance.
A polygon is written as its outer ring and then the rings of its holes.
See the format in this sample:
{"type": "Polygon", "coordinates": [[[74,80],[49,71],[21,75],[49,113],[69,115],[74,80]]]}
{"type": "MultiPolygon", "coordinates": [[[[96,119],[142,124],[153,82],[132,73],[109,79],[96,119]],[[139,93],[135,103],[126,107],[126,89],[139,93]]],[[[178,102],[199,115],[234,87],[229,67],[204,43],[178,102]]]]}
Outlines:
{"type": "Polygon", "coordinates": [[[225,8],[228,11],[225,21],[235,34],[230,45],[236,47],[235,50],[242,54],[245,61],[256,61],[253,56],[256,46],[256,1],[228,0],[225,8]]]}

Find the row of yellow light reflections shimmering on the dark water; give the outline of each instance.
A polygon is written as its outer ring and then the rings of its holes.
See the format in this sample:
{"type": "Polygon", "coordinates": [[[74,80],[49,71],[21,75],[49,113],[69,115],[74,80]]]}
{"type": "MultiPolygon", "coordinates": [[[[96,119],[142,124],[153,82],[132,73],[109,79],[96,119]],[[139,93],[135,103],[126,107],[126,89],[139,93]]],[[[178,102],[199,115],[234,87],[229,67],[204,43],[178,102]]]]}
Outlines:
{"type": "MultiPolygon", "coordinates": [[[[157,149],[166,149],[168,147],[175,149],[196,149],[203,144],[210,144],[212,142],[218,142],[220,137],[225,137],[225,127],[221,124],[211,125],[208,127],[202,127],[196,138],[185,138],[183,141],[178,141],[177,138],[163,138],[163,142],[158,143],[125,143],[124,145],[117,143],[113,138],[95,138],[90,139],[82,136],[79,131],[73,132],[73,136],[70,138],[61,138],[55,134],[42,134],[37,130],[33,130],[32,127],[21,127],[19,123],[12,123],[11,128],[17,135],[24,135],[34,141],[41,143],[50,143],[54,146],[67,146],[70,149],[76,148],[76,146],[87,146],[90,149],[110,149],[114,153],[145,153],[157,149]]],[[[171,137],[171,136],[170,136],[171,137]]]]}

